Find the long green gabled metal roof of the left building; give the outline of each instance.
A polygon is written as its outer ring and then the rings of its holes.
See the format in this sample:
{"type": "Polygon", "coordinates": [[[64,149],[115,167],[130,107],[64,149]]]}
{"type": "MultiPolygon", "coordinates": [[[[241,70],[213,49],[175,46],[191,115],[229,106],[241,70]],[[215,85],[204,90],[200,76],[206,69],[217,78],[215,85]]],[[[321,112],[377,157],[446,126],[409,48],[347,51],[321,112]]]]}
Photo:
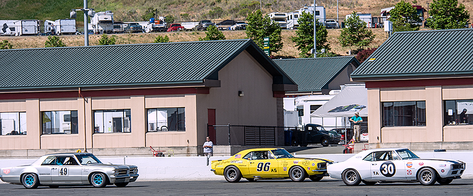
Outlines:
{"type": "Polygon", "coordinates": [[[294,85],[246,39],[0,50],[0,90],[199,83],[244,50],[273,83],[294,85]]]}

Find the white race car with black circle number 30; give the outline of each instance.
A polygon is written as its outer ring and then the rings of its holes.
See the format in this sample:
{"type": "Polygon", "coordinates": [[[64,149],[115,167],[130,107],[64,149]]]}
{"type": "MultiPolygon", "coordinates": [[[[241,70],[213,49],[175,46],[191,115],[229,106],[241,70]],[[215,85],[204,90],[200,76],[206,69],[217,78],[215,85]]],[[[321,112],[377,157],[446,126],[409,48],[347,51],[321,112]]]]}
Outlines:
{"type": "Polygon", "coordinates": [[[422,159],[409,149],[389,148],[362,151],[343,162],[330,164],[327,171],[331,178],[341,179],[348,186],[363,182],[420,182],[447,185],[465,171],[459,160],[422,159]]]}

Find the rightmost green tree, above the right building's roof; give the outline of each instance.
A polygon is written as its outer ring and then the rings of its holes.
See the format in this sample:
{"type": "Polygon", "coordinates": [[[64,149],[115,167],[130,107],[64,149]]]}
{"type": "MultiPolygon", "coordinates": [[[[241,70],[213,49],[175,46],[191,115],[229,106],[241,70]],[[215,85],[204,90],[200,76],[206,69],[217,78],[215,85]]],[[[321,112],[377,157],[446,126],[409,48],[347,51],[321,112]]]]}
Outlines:
{"type": "Polygon", "coordinates": [[[432,29],[463,29],[468,25],[470,15],[457,0],[433,0],[430,4],[427,25],[432,29]]]}

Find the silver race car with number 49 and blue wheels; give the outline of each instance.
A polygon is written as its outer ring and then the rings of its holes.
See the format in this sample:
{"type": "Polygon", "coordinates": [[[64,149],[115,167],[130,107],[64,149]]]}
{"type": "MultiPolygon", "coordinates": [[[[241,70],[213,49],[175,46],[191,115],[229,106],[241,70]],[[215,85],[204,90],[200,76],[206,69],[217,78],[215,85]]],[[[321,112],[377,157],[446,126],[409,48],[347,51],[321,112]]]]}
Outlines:
{"type": "Polygon", "coordinates": [[[138,178],[135,165],[104,164],[91,153],[60,153],[44,155],[30,165],[4,167],[0,179],[25,188],[38,186],[92,185],[102,188],[107,184],[124,187],[138,178]]]}

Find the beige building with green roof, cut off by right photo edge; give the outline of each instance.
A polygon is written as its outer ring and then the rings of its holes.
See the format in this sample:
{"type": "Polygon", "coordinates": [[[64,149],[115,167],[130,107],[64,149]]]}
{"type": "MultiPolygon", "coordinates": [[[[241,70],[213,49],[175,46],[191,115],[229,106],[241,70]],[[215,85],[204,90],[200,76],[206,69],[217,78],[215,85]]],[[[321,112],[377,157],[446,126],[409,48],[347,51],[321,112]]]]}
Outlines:
{"type": "Polygon", "coordinates": [[[353,72],[368,89],[371,148],[473,149],[472,37],[471,29],[395,33],[353,72]]]}

